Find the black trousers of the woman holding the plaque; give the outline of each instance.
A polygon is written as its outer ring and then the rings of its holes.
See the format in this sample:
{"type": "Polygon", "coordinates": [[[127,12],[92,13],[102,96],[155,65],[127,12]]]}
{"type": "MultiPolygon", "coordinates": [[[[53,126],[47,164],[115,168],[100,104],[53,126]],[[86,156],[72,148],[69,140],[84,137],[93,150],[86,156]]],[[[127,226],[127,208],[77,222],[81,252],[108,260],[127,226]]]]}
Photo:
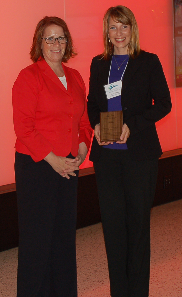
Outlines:
{"type": "Polygon", "coordinates": [[[133,161],[102,149],[94,163],[112,297],[148,297],[150,210],[158,159],[133,161]]]}

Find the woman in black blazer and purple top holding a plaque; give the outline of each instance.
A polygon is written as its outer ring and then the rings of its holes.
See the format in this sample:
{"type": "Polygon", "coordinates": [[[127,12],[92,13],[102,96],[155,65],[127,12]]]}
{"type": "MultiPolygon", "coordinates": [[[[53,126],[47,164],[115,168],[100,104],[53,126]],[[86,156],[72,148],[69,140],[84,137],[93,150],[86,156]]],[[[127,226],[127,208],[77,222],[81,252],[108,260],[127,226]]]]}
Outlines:
{"type": "Polygon", "coordinates": [[[155,122],[171,110],[162,65],[139,46],[131,10],[104,16],[104,53],[93,58],[88,116],[112,297],[148,297],[150,210],[162,154],[155,122]],[[107,99],[104,85],[122,81],[121,96],[107,99]],[[123,110],[121,141],[100,143],[100,112],[123,110]]]}

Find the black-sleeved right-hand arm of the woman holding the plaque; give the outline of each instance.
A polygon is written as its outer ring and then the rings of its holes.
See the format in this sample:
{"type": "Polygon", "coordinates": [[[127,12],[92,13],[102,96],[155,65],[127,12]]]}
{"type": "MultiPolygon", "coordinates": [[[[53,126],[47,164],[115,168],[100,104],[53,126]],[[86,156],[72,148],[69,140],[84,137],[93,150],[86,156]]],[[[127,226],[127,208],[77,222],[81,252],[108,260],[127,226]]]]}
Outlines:
{"type": "Polygon", "coordinates": [[[150,75],[150,92],[154,104],[150,108],[141,110],[140,114],[131,116],[125,121],[131,135],[144,130],[155,122],[165,117],[171,111],[170,92],[167,86],[162,65],[157,55],[153,56],[150,75]]]}

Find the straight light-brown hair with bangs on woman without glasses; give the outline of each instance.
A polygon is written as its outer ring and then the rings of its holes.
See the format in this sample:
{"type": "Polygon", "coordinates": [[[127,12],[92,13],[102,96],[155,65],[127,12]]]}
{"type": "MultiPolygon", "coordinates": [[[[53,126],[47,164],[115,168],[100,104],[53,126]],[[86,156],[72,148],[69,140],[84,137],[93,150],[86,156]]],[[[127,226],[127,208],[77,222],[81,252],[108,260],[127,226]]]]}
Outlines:
{"type": "Polygon", "coordinates": [[[129,8],[122,5],[110,7],[105,12],[103,19],[104,52],[102,53],[102,58],[108,60],[114,52],[114,46],[111,42],[109,42],[108,38],[109,18],[112,18],[118,23],[130,26],[131,39],[128,45],[128,55],[131,59],[135,59],[141,52],[138,25],[133,12],[129,8]]]}

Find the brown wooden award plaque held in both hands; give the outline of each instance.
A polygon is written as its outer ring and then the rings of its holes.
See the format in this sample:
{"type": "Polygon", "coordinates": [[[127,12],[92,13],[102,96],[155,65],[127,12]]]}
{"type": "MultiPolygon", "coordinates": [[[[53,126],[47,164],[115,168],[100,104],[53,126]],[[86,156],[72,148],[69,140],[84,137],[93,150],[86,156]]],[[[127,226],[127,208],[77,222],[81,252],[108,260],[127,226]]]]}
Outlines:
{"type": "Polygon", "coordinates": [[[107,111],[100,113],[100,143],[120,141],[123,127],[123,112],[107,111]]]}

